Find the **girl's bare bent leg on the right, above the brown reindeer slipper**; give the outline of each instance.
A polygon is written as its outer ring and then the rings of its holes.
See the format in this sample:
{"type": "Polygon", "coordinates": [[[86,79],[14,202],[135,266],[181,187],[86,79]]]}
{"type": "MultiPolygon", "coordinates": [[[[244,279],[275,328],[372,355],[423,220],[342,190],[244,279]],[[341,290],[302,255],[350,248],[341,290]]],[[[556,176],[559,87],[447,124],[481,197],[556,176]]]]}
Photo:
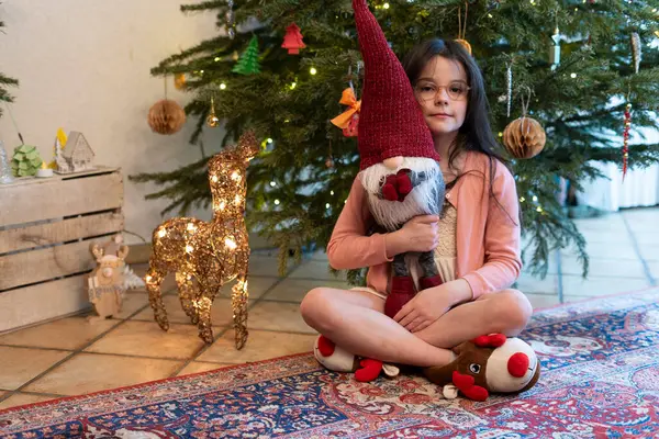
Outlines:
{"type": "Polygon", "coordinates": [[[485,334],[517,336],[532,314],[533,307],[524,294],[517,290],[503,290],[459,305],[414,334],[433,346],[453,348],[485,334]]]}

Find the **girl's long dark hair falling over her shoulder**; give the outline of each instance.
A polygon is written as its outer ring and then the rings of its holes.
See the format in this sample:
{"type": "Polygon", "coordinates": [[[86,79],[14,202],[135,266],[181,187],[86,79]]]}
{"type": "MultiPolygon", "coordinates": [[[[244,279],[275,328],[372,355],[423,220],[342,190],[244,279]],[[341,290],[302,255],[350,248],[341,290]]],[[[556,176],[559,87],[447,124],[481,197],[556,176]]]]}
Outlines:
{"type": "MultiPolygon", "coordinates": [[[[461,150],[473,150],[487,155],[490,159],[490,196],[501,206],[501,203],[496,200],[493,192],[496,162],[500,161],[503,166],[509,168],[509,170],[510,164],[501,153],[499,153],[501,146],[494,138],[494,134],[490,126],[490,119],[488,117],[489,104],[483,75],[473,57],[469,55],[467,49],[460,43],[453,40],[433,38],[412,47],[403,59],[403,68],[405,69],[405,74],[407,75],[412,87],[416,86],[418,77],[425,66],[436,56],[460,63],[465,68],[467,82],[471,88],[469,90],[469,102],[467,103],[465,122],[462,123],[462,126],[460,126],[459,135],[456,138],[456,145],[450,148],[448,166],[449,168],[453,168],[454,160],[461,150]]],[[[458,178],[462,176],[458,176],[458,178]]],[[[510,217],[510,214],[507,215],[510,217]]]]}

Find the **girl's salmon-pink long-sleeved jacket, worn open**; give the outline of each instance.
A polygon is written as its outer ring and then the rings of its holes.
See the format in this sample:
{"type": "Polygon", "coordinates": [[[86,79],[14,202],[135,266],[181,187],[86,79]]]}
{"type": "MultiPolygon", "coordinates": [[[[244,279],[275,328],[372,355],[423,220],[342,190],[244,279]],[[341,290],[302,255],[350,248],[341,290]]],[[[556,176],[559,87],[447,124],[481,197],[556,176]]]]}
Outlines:
{"type": "MultiPolygon", "coordinates": [[[[515,180],[494,160],[493,192],[500,206],[490,198],[489,162],[484,154],[468,151],[463,177],[446,194],[458,212],[456,279],[469,283],[473,299],[511,286],[522,269],[515,180]]],[[[367,284],[386,292],[393,259],[387,258],[384,235],[366,236],[372,222],[366,192],[356,178],[334,226],[327,257],[337,270],[369,267],[367,284]]]]}

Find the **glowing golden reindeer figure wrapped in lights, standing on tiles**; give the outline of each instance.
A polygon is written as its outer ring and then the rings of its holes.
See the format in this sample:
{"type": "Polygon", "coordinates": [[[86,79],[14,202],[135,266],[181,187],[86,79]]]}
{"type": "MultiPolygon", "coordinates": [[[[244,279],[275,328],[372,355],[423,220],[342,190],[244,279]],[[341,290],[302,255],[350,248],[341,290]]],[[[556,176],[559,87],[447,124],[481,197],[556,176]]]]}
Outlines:
{"type": "Polygon", "coordinates": [[[155,318],[169,329],[160,283],[176,271],[179,299],[186,314],[199,328],[199,337],[213,342],[211,306],[225,282],[237,278],[232,291],[236,348],[247,341],[247,269],[249,243],[245,226],[246,171],[258,154],[253,132],[246,132],[238,145],[209,161],[209,181],[213,196],[213,219],[172,218],[154,230],[153,254],[145,277],[155,318]]]}

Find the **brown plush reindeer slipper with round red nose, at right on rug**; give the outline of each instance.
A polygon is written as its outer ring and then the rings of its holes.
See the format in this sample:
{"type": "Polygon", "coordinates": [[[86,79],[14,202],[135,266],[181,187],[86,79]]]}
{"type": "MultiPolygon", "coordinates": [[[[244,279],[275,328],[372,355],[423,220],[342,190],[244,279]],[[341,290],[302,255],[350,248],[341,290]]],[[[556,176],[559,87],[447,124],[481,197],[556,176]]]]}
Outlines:
{"type": "Polygon", "coordinates": [[[530,346],[503,334],[477,337],[454,348],[455,361],[426,368],[424,374],[443,385],[446,398],[458,393],[473,401],[485,401],[490,393],[529,390],[540,378],[540,362],[530,346]]]}

